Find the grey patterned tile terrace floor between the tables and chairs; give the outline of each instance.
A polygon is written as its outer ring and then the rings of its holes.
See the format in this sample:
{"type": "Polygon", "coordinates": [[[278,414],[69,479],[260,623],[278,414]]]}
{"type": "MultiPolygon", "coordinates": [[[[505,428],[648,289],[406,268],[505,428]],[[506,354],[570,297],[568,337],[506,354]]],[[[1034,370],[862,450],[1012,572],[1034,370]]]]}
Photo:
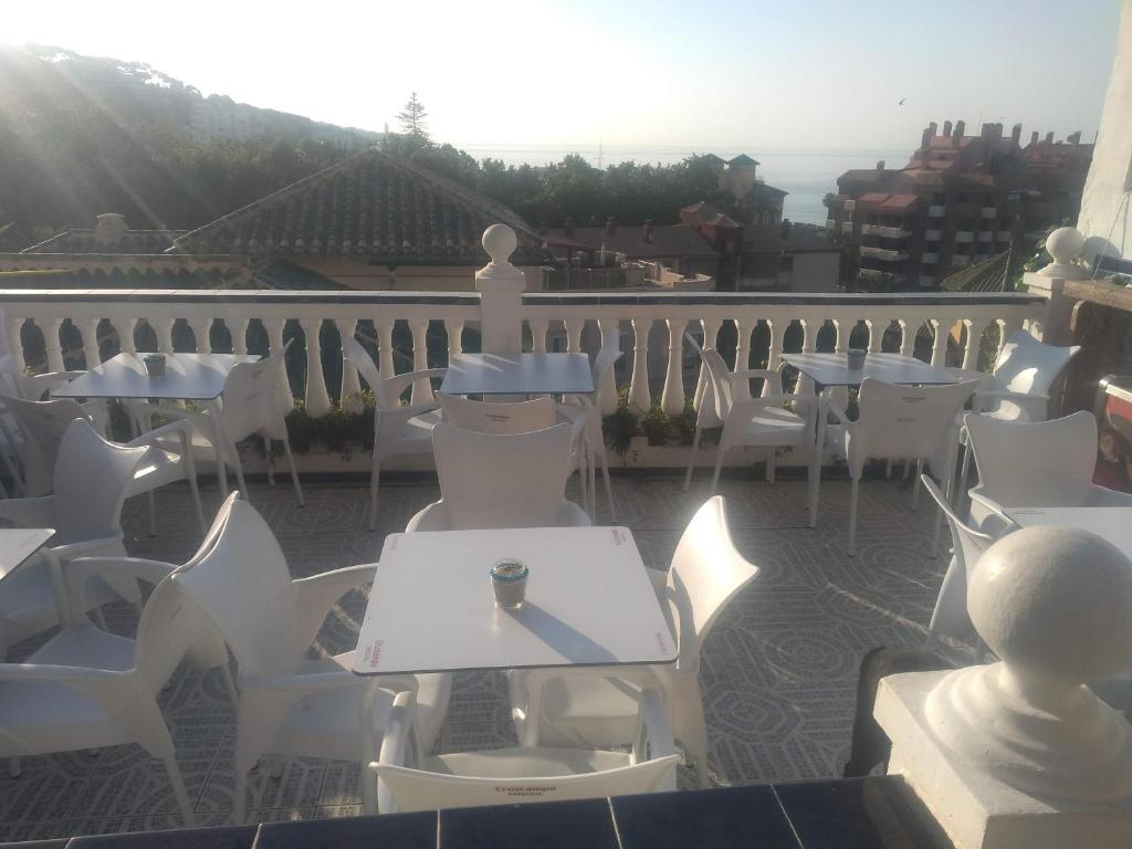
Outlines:
{"type": "MultiPolygon", "coordinates": [[[[648,565],[664,568],[686,522],[707,497],[706,472],[689,492],[677,475],[615,478],[618,523],[633,530],[648,565]]],[[[305,486],[298,507],[289,481],[251,484],[251,504],[271,523],[295,576],[378,559],[384,533],[400,531],[438,497],[435,483],[383,486],[383,525],[366,530],[361,483],[305,486]]],[[[861,657],[878,645],[920,645],[946,558],[928,557],[934,511],[927,494],[911,509],[907,484],[861,484],[858,554],[846,556],[847,480],[822,487],[820,524],[805,524],[805,482],[769,486],[724,478],[720,494],[736,544],[761,567],[756,580],[717,621],[703,655],[712,780],[717,784],[832,778],[848,756],[861,657]]],[[[206,509],[220,501],[204,492],[206,509]]],[[[601,499],[603,501],[603,499],[601,499]]],[[[158,534],[146,532],[144,498],[127,504],[130,554],[180,563],[199,534],[185,489],[157,495],[158,534]]],[[[604,507],[602,503],[602,508],[604,507]]],[[[608,523],[608,516],[599,516],[608,523]]],[[[320,645],[351,644],[365,610],[360,592],[327,618],[320,645]]],[[[108,617],[129,633],[125,607],[108,617]]],[[[17,646],[12,660],[34,650],[17,646]]],[[[200,824],[223,824],[232,811],[232,712],[218,675],[180,670],[161,703],[200,824]]],[[[455,681],[447,751],[514,743],[500,674],[465,674],[455,681]]],[[[28,757],[24,773],[0,769],[0,841],[180,827],[165,773],[139,747],[28,757]]],[[[250,780],[257,821],[321,818],[360,813],[358,765],[282,758],[250,780]],[[278,778],[272,778],[276,772],[278,778]]],[[[691,786],[681,769],[681,784],[691,786]]]]}

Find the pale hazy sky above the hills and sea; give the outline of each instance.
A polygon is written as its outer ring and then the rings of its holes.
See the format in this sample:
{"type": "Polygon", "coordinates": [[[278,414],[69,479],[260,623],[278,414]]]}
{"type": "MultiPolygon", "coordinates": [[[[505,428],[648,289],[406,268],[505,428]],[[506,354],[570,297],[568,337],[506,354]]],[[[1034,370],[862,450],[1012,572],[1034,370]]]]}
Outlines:
{"type": "Polygon", "coordinates": [[[3,3],[0,40],[368,129],[417,91],[461,144],[910,149],[928,121],[980,115],[1091,140],[1117,17],[1118,0],[54,0],[3,3]]]}

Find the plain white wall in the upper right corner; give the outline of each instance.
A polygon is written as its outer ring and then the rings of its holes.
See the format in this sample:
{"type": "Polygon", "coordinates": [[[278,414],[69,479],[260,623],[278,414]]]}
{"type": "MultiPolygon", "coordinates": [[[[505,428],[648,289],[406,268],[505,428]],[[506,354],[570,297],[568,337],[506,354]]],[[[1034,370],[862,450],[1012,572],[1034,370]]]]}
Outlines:
{"type": "Polygon", "coordinates": [[[1078,229],[1109,239],[1132,257],[1132,0],[1121,2],[1116,57],[1108,79],[1105,111],[1084,183],[1078,229]],[[1112,232],[1112,235],[1109,235],[1112,232]]]}

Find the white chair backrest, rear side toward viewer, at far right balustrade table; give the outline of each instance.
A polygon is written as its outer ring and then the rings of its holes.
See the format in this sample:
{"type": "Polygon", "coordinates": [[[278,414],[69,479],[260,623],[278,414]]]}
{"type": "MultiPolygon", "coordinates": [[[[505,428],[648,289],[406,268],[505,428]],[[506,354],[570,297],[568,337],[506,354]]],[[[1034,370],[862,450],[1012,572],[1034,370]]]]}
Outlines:
{"type": "Polygon", "coordinates": [[[901,386],[866,377],[857,397],[856,456],[929,457],[980,380],[901,386]]]}

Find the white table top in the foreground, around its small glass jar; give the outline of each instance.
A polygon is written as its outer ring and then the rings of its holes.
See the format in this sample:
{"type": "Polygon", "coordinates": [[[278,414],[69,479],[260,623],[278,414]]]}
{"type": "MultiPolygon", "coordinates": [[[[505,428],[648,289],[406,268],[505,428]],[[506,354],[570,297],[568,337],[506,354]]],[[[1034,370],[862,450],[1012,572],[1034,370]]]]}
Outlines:
{"type": "Polygon", "coordinates": [[[671,663],[676,645],[625,528],[386,537],[353,670],[360,675],[671,663]],[[530,568],[526,601],[496,607],[488,575],[530,568]]]}

